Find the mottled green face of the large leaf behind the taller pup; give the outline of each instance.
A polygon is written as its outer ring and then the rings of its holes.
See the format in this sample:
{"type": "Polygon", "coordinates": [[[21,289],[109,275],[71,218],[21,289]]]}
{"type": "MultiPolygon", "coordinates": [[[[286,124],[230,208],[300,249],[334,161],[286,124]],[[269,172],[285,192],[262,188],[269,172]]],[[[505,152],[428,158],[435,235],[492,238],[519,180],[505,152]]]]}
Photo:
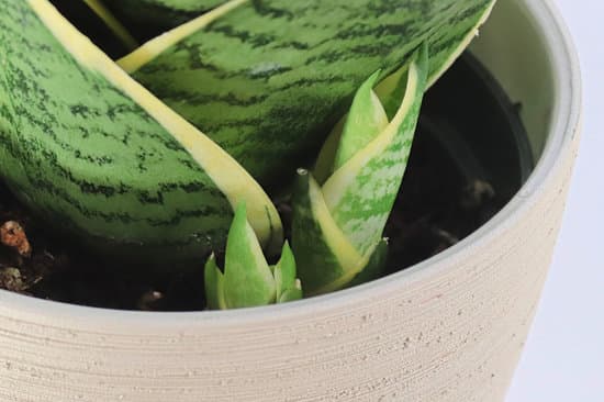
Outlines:
{"type": "Polygon", "coordinates": [[[491,3],[250,1],[134,76],[273,183],[323,143],[373,71],[393,71],[424,40],[437,44],[437,71],[491,3]]]}

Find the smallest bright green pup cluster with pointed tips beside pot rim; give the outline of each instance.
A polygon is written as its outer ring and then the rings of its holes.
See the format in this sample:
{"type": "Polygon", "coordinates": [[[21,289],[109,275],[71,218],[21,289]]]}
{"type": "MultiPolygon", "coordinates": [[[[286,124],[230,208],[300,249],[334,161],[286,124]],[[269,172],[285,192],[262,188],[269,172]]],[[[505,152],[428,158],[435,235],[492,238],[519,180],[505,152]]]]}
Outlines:
{"type": "Polygon", "coordinates": [[[268,265],[256,234],[247,222],[245,203],[239,204],[228,232],[224,273],[214,255],[205,264],[209,309],[242,309],[283,303],[302,298],[295,278],[295,260],[286,243],[279,263],[268,265]]]}

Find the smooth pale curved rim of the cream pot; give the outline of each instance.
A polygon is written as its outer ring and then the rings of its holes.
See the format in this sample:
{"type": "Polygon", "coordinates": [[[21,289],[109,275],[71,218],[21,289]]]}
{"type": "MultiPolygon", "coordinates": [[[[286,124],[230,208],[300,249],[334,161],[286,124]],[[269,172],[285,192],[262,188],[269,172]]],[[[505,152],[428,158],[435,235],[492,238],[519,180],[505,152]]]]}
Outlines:
{"type": "Polygon", "coordinates": [[[381,293],[393,292],[413,282],[439,276],[450,267],[449,263],[463,260],[522,219],[551,179],[552,172],[561,163],[564,149],[569,148],[580,129],[581,71],[570,33],[552,0],[525,0],[521,7],[533,16],[533,22],[539,25],[547,45],[556,94],[549,130],[551,134],[534,171],[518,193],[495,216],[458,244],[402,271],[371,282],[286,304],[231,311],[142,312],[68,304],[0,290],[0,314],[24,321],[46,321],[55,326],[60,325],[60,322],[74,323],[74,319],[77,319],[77,323],[85,327],[105,324],[113,328],[138,327],[142,331],[174,327],[208,330],[235,324],[241,326],[245,323],[261,325],[279,322],[283,317],[292,320],[297,316],[359,304],[376,299],[381,293]]]}

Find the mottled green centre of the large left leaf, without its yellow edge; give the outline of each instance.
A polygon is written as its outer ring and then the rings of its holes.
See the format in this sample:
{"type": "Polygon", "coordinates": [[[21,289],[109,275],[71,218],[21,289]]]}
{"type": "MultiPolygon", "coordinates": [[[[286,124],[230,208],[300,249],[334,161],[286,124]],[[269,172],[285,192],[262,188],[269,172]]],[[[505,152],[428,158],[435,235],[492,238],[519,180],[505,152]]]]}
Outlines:
{"type": "Polygon", "coordinates": [[[113,253],[178,261],[222,247],[232,209],[191,156],[26,1],[0,7],[0,174],[21,199],[113,253]]]}

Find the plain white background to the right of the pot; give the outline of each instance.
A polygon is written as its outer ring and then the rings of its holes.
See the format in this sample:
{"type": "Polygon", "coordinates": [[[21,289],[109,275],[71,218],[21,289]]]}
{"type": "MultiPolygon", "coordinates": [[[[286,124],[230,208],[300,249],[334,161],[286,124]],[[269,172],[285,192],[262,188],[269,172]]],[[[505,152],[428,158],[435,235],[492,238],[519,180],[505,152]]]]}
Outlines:
{"type": "Polygon", "coordinates": [[[584,131],[553,265],[507,402],[603,402],[604,1],[555,3],[579,49],[584,131]]]}

